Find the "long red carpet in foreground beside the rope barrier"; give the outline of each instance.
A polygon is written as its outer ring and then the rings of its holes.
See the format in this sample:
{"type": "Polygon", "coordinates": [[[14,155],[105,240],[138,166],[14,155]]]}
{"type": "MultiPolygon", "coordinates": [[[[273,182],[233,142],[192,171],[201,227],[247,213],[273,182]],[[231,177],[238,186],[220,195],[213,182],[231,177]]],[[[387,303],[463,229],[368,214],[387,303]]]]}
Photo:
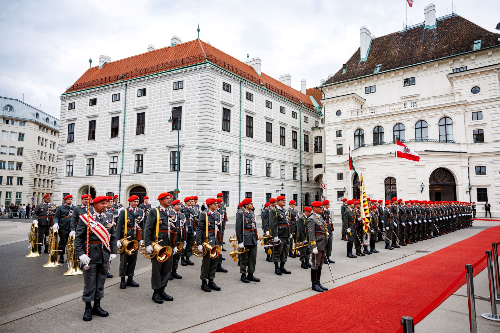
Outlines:
{"type": "MultiPolygon", "coordinates": [[[[457,280],[465,264],[474,264],[498,241],[500,226],[491,227],[411,262],[214,332],[300,332],[314,328],[321,332],[393,333],[400,328],[401,316],[417,316],[457,280]]],[[[483,260],[474,268],[474,276],[485,267],[483,260]]],[[[465,283],[465,278],[459,281],[446,298],[465,283]]],[[[431,306],[429,312],[439,304],[431,306]]]]}

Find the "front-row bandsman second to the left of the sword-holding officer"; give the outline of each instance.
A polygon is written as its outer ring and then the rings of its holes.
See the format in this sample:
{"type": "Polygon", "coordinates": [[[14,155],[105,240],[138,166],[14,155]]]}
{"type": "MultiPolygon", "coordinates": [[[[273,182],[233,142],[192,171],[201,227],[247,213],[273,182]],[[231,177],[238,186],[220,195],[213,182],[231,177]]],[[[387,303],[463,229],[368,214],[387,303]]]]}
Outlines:
{"type": "Polygon", "coordinates": [[[272,247],[272,262],[276,275],[291,274],[284,268],[288,256],[291,238],[291,224],[288,211],[284,209],[285,197],[280,195],[276,198],[276,206],[269,210],[269,230],[274,236],[274,242],[280,241],[279,245],[272,247]],[[278,266],[279,263],[279,266],[278,266]]]}

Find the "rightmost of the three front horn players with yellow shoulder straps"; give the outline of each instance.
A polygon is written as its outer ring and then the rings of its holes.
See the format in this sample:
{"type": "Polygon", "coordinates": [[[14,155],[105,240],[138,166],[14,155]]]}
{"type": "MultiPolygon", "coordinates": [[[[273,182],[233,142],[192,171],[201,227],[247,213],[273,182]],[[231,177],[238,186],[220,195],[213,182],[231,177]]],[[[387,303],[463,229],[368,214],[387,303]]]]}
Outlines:
{"type": "MultiPolygon", "coordinates": [[[[220,235],[221,226],[218,219],[220,215],[216,212],[216,203],[214,198],[205,200],[208,209],[199,214],[198,225],[196,226],[196,245],[198,251],[202,251],[203,243],[207,243],[214,247],[222,244],[222,237],[220,235]],[[220,229],[219,229],[220,227],[220,229]],[[208,230],[208,233],[206,233],[208,230]]],[[[201,262],[201,269],[199,279],[201,280],[201,290],[209,293],[212,290],[219,291],[214,282],[215,272],[217,270],[218,258],[211,259],[210,252],[207,250],[201,262]],[[208,280],[208,283],[206,282],[208,280]]]]}

